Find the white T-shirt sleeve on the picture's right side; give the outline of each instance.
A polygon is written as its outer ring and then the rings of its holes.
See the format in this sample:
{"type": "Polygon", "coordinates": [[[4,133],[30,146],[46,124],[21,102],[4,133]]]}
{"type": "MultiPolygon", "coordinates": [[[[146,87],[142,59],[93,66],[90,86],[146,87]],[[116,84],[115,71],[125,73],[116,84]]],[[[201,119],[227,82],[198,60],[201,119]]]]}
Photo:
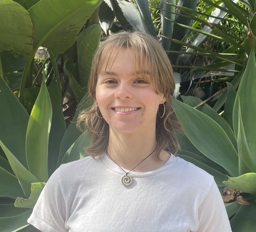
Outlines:
{"type": "Polygon", "coordinates": [[[220,190],[213,181],[198,209],[198,232],[232,232],[220,190]]]}

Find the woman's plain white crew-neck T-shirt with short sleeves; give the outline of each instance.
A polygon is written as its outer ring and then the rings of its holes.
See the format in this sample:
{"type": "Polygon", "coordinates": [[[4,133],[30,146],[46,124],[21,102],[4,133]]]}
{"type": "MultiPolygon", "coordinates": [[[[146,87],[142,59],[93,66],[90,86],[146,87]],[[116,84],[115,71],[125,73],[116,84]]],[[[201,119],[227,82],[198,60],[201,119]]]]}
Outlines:
{"type": "Polygon", "coordinates": [[[44,232],[230,232],[214,179],[171,156],[159,169],[124,172],[106,154],[63,164],[49,178],[28,222],[44,232]]]}

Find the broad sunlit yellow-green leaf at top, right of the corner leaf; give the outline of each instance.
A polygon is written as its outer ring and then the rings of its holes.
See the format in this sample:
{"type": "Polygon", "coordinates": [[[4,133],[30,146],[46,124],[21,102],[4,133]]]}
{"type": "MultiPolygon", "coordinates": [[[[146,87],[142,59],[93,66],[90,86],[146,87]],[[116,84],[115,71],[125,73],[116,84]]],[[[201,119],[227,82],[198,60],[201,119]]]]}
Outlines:
{"type": "Polygon", "coordinates": [[[34,25],[34,48],[40,45],[55,55],[75,42],[86,20],[101,0],[41,0],[28,11],[34,25]]]}

